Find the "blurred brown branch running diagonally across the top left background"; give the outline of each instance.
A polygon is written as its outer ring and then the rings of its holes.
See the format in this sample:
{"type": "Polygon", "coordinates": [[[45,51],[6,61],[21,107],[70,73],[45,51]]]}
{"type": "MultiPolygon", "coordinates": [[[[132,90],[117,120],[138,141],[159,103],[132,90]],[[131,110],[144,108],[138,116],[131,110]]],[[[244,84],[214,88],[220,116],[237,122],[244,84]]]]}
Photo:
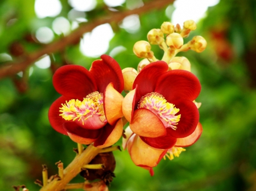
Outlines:
{"type": "Polygon", "coordinates": [[[0,67],[0,79],[10,77],[15,75],[19,71],[25,70],[28,66],[34,63],[38,58],[42,57],[44,54],[55,53],[65,46],[71,45],[73,42],[77,41],[85,32],[92,31],[93,28],[112,22],[120,22],[123,18],[132,14],[142,14],[144,12],[150,12],[155,9],[162,9],[167,5],[170,5],[174,0],[158,0],[158,1],[150,1],[145,3],[143,7],[134,10],[126,10],[122,12],[113,12],[110,15],[96,18],[89,23],[86,23],[75,31],[73,31],[70,35],[65,36],[51,44],[44,46],[42,49],[39,49],[35,52],[28,54],[23,58],[22,61],[7,63],[0,67]]]}

